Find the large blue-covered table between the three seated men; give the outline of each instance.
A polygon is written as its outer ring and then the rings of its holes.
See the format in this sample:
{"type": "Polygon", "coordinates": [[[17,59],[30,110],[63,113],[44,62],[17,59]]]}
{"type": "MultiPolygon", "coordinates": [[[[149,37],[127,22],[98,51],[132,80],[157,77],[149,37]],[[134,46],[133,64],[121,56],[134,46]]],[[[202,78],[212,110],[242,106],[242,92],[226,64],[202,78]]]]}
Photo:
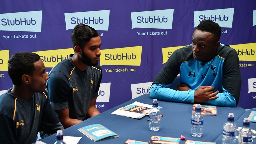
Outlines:
{"type": "MultiPolygon", "coordinates": [[[[160,110],[164,115],[161,118],[161,128],[159,131],[150,131],[147,116],[138,120],[111,114],[118,108],[129,105],[135,101],[145,104],[152,104],[153,102],[149,94],[144,94],[119,106],[109,109],[95,117],[89,118],[81,123],[71,126],[65,129],[63,134],[66,136],[82,137],[82,139],[78,142],[79,144],[95,144],[95,142],[87,138],[77,129],[91,124],[102,124],[103,126],[120,135],[120,137],[101,140],[96,142],[97,144],[123,144],[127,139],[148,142],[152,135],[175,138],[180,138],[180,136],[183,135],[186,137],[186,140],[213,142],[222,134],[223,124],[227,121],[228,113],[234,113],[235,121],[237,121],[245,113],[245,110],[241,107],[217,106],[217,116],[204,116],[203,136],[200,138],[195,138],[190,135],[193,104],[158,100],[158,105],[163,107],[160,110]]],[[[40,139],[40,141],[49,144],[54,143],[55,134],[45,139],[40,139]]],[[[185,141],[180,141],[180,144],[184,143],[185,141]]]]}

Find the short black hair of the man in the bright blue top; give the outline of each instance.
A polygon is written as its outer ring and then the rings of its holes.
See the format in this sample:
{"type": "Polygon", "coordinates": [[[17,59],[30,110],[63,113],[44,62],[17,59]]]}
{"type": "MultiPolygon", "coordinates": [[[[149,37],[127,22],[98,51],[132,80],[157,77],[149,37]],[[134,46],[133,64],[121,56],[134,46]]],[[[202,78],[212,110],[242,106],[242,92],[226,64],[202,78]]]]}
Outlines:
{"type": "Polygon", "coordinates": [[[220,40],[221,27],[219,26],[219,24],[212,20],[201,21],[196,29],[212,33],[215,37],[216,42],[220,40]]]}

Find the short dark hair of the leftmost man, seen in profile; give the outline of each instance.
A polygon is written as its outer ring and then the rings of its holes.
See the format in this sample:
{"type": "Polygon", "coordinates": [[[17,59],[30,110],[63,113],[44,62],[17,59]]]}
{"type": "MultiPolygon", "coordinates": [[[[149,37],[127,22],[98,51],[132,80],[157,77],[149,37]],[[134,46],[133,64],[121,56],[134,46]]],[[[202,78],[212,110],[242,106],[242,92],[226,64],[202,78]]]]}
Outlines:
{"type": "Polygon", "coordinates": [[[40,60],[40,56],[31,52],[18,52],[12,55],[8,61],[8,74],[14,85],[22,84],[22,75],[33,75],[34,62],[40,60]]]}

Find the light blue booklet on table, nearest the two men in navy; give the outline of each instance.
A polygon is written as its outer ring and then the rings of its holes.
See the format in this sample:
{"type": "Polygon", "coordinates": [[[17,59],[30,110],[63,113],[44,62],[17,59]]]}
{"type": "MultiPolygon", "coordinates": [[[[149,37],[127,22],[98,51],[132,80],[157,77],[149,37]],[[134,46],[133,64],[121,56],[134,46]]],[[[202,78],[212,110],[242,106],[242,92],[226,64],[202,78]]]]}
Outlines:
{"type": "Polygon", "coordinates": [[[94,142],[102,140],[102,139],[109,139],[109,138],[116,138],[119,137],[118,134],[114,133],[113,131],[109,130],[108,128],[104,127],[100,124],[92,124],[78,129],[88,138],[93,140],[94,142]]]}

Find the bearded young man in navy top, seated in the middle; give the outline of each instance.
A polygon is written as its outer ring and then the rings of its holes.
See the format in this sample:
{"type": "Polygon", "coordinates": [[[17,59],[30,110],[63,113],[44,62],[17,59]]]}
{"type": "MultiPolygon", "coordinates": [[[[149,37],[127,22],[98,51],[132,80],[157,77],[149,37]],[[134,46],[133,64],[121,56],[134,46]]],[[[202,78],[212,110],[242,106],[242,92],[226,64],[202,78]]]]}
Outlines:
{"type": "Polygon", "coordinates": [[[100,36],[94,28],[78,24],[71,40],[74,54],[58,63],[47,81],[50,103],[64,128],[100,114],[95,107],[102,78],[100,36]]]}

